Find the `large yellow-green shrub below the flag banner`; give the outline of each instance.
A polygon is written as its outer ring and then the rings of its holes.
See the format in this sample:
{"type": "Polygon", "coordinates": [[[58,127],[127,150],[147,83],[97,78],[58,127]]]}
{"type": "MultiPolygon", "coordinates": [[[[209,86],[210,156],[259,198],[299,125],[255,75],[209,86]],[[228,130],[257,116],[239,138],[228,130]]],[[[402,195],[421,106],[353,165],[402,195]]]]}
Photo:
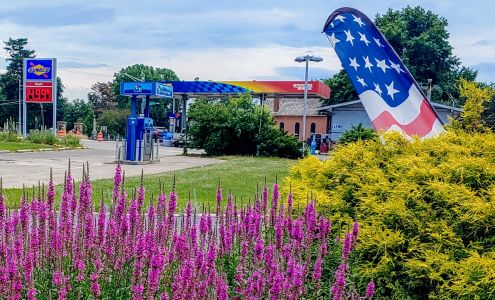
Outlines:
{"type": "Polygon", "coordinates": [[[359,220],[357,272],[378,298],[495,299],[495,134],[383,139],[301,160],[284,187],[334,226],[359,220]]]}

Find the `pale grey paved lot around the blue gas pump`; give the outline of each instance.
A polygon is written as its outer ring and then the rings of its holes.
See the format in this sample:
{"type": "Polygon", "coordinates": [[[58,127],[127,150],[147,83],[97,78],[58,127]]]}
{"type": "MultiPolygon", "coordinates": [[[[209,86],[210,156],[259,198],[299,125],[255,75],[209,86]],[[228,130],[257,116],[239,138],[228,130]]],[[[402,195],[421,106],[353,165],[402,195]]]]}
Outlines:
{"type": "MultiPolygon", "coordinates": [[[[62,183],[67,170],[69,159],[72,174],[76,180],[82,176],[82,166],[89,163],[92,179],[112,178],[115,164],[115,142],[83,141],[86,149],[27,152],[27,153],[0,153],[0,177],[6,188],[32,186],[38,182],[49,181],[50,168],[53,170],[55,183],[62,183]]],[[[197,150],[188,153],[198,154],[197,150]]],[[[187,168],[200,167],[221,163],[222,160],[198,156],[182,156],[182,148],[160,147],[160,162],[149,165],[125,165],[126,176],[157,174],[187,168]]]]}

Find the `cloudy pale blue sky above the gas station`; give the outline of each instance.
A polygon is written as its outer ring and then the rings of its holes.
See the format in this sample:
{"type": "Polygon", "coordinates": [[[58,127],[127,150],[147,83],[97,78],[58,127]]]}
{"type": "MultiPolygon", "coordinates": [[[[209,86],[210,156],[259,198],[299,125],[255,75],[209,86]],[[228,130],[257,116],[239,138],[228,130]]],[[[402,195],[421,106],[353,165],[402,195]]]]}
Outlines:
{"type": "MultiPolygon", "coordinates": [[[[297,80],[294,57],[320,55],[310,77],[340,63],[321,33],[342,6],[374,18],[388,8],[421,5],[444,16],[454,53],[495,81],[495,2],[491,0],[21,0],[0,2],[0,39],[27,37],[38,57],[56,57],[70,99],[127,65],[174,70],[181,80],[297,80]]],[[[5,52],[0,50],[0,72],[5,52]]]]}

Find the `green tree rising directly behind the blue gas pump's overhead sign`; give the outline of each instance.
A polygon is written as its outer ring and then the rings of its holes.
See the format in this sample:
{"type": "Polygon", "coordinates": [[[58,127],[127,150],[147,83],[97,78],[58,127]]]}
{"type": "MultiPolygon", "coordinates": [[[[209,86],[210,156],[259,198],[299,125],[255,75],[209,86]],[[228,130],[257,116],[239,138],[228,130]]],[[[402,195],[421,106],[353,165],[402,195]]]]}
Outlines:
{"type": "MultiPolygon", "coordinates": [[[[132,77],[137,79],[143,79],[146,81],[175,81],[179,80],[179,77],[174,71],[167,68],[155,68],[152,66],[146,66],[142,64],[136,64],[121,69],[118,73],[114,74],[113,80],[113,92],[115,95],[120,95],[120,83],[123,81],[134,81],[132,77]],[[127,74],[127,75],[126,75],[127,74]],[[129,77],[130,75],[131,77],[129,77]]],[[[119,108],[129,108],[129,97],[117,96],[117,102],[119,108]]]]}

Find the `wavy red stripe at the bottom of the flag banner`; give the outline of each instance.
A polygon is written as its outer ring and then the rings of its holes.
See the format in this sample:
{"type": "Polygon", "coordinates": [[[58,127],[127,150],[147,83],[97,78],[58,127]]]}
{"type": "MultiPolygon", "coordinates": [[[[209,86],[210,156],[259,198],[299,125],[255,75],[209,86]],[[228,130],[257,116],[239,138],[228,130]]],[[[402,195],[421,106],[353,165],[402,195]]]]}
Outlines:
{"type": "Polygon", "coordinates": [[[382,112],[372,123],[377,130],[388,130],[393,125],[399,127],[409,136],[423,137],[430,133],[437,117],[426,100],[421,103],[418,116],[408,124],[399,123],[388,111],[382,112]]]}

